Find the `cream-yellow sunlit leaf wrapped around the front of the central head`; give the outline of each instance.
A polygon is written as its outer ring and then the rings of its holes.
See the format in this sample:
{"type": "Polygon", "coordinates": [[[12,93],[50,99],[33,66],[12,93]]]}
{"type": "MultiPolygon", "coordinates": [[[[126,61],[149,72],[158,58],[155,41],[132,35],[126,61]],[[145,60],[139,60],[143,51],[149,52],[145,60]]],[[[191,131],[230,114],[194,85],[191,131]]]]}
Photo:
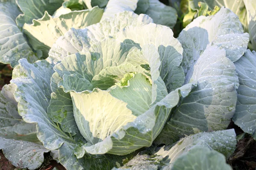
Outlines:
{"type": "Polygon", "coordinates": [[[127,103],[112,96],[110,91],[94,89],[92,92],[71,92],[71,97],[79,131],[91,144],[101,142],[136,119],[136,114],[127,108],[127,103]]]}

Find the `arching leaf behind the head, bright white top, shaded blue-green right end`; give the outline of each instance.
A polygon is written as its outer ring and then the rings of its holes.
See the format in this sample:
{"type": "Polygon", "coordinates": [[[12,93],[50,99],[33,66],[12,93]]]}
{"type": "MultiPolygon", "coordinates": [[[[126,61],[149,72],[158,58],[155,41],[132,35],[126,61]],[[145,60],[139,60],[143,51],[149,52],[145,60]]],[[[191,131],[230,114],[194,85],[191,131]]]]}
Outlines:
{"type": "Polygon", "coordinates": [[[184,83],[184,71],[180,66],[183,48],[173,37],[169,27],[149,23],[142,27],[128,26],[117,36],[120,42],[140,45],[153,44],[160,55],[160,76],[168,92],[179,88],[184,83]],[[150,36],[149,36],[150,35],[150,36]]]}

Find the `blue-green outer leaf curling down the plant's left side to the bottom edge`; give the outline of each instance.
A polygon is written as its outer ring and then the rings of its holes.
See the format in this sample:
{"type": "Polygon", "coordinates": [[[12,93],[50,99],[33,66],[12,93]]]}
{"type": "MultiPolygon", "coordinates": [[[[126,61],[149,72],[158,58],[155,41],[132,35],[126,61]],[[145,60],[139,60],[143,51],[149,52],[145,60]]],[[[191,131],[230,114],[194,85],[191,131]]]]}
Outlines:
{"type": "Polygon", "coordinates": [[[79,135],[71,138],[61,130],[47,115],[51,88],[50,77],[54,72],[52,65],[45,60],[29,64],[26,59],[20,59],[14,69],[12,83],[17,85],[15,99],[18,111],[23,120],[37,123],[38,139],[49,150],[58,149],[58,160],[67,169],[75,170],[109,170],[116,164],[122,165],[122,159],[128,156],[86,155],[77,159],[74,155],[79,135]]]}

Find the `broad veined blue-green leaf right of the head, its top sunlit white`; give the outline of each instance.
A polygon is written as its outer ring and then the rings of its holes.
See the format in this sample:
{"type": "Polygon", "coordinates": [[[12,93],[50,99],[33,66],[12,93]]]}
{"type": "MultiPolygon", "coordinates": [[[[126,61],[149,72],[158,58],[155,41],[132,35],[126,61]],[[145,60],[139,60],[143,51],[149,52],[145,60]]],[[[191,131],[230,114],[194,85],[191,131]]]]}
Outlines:
{"type": "Polygon", "coordinates": [[[188,81],[196,81],[198,86],[171,116],[157,138],[159,144],[172,144],[198,131],[224,130],[235,113],[239,80],[223,49],[208,45],[188,81]]]}

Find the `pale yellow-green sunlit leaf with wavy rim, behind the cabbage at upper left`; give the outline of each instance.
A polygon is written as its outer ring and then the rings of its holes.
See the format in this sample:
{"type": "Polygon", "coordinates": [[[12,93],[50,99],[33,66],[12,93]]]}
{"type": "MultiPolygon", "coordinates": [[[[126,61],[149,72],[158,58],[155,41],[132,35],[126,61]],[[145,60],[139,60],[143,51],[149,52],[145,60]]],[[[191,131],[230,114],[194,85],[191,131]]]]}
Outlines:
{"type": "Polygon", "coordinates": [[[44,16],[33,20],[32,24],[24,24],[24,33],[35,50],[42,50],[44,57],[48,57],[49,49],[55,41],[64,36],[70,28],[85,28],[99,23],[103,9],[94,7],[90,10],[70,11],[58,17],[52,17],[45,11],[44,16]]]}

